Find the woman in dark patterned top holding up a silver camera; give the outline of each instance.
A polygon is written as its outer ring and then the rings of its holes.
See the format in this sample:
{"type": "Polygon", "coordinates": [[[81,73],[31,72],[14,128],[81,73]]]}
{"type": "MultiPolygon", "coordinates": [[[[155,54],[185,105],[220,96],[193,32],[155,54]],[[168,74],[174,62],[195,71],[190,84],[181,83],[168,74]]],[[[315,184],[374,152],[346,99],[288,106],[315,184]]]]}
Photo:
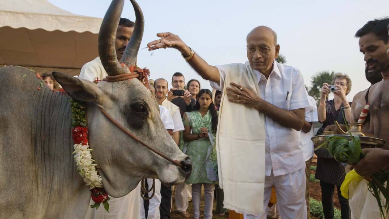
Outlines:
{"type": "MultiPolygon", "coordinates": [[[[317,135],[322,134],[327,125],[335,124],[335,120],[339,124],[346,124],[351,119],[351,102],[348,102],[346,98],[351,90],[351,79],[346,74],[336,73],[332,78],[331,85],[329,86],[327,83],[323,83],[323,87],[321,88],[320,104],[317,109],[317,114],[319,122],[323,125],[317,131],[317,135]],[[330,92],[333,92],[334,99],[326,101],[327,95],[330,92]]],[[[324,217],[334,218],[333,194],[336,185],[342,219],[348,219],[349,202],[340,194],[340,186],[345,177],[344,166],[331,156],[320,157],[319,154],[317,155],[315,178],[320,180],[324,217]]]]}

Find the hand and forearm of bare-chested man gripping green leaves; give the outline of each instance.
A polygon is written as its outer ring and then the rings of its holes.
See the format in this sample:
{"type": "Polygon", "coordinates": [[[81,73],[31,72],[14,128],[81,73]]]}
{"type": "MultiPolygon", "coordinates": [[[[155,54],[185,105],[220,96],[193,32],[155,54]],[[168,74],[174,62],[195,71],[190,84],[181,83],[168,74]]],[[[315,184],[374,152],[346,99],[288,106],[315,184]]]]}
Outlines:
{"type": "Polygon", "coordinates": [[[365,148],[362,149],[366,156],[363,157],[357,164],[352,165],[351,169],[361,175],[366,180],[373,180],[371,175],[376,173],[385,166],[389,165],[389,150],[381,148],[365,148]]]}

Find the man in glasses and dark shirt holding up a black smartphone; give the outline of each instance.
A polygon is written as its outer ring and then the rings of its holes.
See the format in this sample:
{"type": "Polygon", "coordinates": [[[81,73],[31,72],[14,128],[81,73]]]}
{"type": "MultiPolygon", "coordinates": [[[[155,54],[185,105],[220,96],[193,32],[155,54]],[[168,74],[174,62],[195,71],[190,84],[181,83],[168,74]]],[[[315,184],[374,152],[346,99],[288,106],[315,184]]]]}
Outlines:
{"type": "Polygon", "coordinates": [[[168,101],[180,108],[181,117],[185,112],[190,112],[195,106],[196,101],[192,94],[184,89],[185,78],[181,72],[175,72],[172,77],[172,88],[168,92],[168,101]]]}

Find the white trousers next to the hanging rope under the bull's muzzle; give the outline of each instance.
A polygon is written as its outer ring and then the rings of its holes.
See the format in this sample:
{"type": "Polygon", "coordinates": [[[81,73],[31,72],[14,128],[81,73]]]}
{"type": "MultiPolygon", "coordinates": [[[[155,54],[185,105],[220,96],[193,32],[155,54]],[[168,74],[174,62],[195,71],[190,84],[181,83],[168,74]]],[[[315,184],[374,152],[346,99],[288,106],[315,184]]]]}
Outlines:
{"type": "MultiPolygon", "coordinates": [[[[152,179],[147,179],[147,184],[149,185],[149,189],[152,186],[152,179]]],[[[149,197],[152,194],[152,191],[148,193],[149,197]]],[[[144,200],[140,197],[140,218],[146,219],[145,216],[145,208],[144,208],[144,200]]],[[[159,179],[155,179],[155,193],[154,196],[149,200],[149,211],[147,212],[147,219],[159,219],[161,215],[159,215],[159,205],[161,204],[161,181],[159,179]]]]}

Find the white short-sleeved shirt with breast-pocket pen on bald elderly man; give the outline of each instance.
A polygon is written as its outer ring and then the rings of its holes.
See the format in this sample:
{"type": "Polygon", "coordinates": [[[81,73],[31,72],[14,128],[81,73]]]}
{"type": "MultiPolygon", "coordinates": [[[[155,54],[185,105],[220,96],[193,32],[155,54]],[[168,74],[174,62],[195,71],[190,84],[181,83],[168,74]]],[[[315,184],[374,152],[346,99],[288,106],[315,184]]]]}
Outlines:
{"type": "MultiPolygon", "coordinates": [[[[247,62],[241,65],[242,67],[250,67],[247,62]]],[[[216,67],[219,69],[220,82],[218,85],[211,81],[210,85],[214,89],[221,90],[224,86],[226,72],[230,69],[229,65],[218,65],[216,67]]],[[[261,72],[252,71],[256,72],[257,75],[261,99],[285,110],[310,106],[308,93],[304,86],[304,78],[297,68],[277,63],[274,60],[273,70],[267,80],[261,72]]],[[[293,173],[305,166],[299,131],[280,125],[266,115],[265,129],[266,176],[270,176],[272,171],[274,176],[293,173]]]]}

